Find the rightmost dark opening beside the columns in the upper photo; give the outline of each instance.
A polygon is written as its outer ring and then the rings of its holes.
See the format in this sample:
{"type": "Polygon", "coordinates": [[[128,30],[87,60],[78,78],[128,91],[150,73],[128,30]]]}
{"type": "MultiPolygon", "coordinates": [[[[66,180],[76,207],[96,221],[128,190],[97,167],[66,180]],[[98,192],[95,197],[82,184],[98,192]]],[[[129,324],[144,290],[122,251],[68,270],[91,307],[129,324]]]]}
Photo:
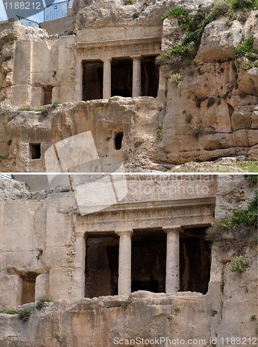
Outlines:
{"type": "Polygon", "coordinates": [[[156,56],[141,58],[141,96],[157,96],[159,87],[159,68],[155,64],[156,56]]]}

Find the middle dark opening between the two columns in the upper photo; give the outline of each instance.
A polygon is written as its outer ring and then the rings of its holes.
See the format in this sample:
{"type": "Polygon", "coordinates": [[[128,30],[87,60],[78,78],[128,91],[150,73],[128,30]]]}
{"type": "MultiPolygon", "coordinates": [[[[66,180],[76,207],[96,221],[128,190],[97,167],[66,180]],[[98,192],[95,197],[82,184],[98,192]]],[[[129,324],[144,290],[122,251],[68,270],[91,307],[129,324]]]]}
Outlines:
{"type": "Polygon", "coordinates": [[[112,59],[111,96],[132,97],[132,59],[112,59]]]}

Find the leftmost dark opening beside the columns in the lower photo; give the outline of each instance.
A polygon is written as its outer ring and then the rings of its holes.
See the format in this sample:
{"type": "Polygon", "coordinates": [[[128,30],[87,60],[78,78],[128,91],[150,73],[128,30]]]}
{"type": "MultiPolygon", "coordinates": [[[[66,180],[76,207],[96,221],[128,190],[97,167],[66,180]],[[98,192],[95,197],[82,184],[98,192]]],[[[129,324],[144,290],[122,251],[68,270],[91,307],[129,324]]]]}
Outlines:
{"type": "Polygon", "coordinates": [[[119,271],[119,236],[90,235],[86,241],[85,297],[117,295],[119,271]]]}

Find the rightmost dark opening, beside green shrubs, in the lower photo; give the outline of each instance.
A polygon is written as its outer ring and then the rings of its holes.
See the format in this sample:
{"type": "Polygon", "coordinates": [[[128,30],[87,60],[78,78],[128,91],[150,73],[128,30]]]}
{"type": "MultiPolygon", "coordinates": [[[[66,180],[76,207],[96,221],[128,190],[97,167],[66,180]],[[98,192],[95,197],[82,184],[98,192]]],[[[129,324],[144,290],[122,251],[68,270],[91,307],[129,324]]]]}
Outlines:
{"type": "Polygon", "coordinates": [[[206,228],[189,228],[180,234],[180,291],[206,294],[210,276],[211,245],[206,228]]]}

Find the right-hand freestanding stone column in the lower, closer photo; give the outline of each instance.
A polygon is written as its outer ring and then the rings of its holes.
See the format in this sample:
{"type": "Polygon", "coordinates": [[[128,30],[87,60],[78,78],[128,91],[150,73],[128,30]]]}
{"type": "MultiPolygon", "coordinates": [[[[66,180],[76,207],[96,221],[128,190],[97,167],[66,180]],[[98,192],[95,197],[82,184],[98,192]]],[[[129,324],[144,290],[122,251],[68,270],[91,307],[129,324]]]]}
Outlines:
{"type": "Polygon", "coordinates": [[[180,226],[163,227],[166,232],[166,294],[179,290],[179,233],[180,226]]]}

